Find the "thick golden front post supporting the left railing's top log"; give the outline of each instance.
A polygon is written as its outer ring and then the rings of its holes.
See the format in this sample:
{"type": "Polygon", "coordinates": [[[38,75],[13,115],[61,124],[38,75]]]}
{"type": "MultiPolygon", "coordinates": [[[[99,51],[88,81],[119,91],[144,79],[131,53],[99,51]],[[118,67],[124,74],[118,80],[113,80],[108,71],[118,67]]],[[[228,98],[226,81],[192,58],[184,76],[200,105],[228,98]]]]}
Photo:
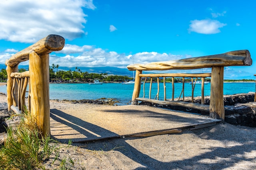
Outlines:
{"type": "Polygon", "coordinates": [[[30,70],[30,113],[42,135],[50,135],[50,100],[49,100],[49,54],[29,54],[30,70]]]}

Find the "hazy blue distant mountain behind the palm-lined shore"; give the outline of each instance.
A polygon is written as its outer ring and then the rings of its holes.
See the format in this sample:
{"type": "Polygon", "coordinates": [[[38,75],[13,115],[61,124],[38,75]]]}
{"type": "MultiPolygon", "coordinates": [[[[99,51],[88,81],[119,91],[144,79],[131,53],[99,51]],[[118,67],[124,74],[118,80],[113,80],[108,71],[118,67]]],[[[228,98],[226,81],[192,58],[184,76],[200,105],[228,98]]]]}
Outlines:
{"type": "MultiPolygon", "coordinates": [[[[0,64],[0,69],[6,68],[5,64],[0,64]]],[[[24,68],[28,70],[28,65],[23,66],[19,65],[19,68],[24,68]]],[[[117,67],[78,67],[82,72],[89,72],[89,73],[108,73],[113,75],[119,75],[119,76],[130,76],[132,77],[132,71],[129,71],[127,68],[117,68],[117,67]]],[[[56,71],[56,69],[54,69],[56,71]]],[[[59,67],[58,70],[64,70],[64,71],[74,71],[75,67],[59,67]]]]}

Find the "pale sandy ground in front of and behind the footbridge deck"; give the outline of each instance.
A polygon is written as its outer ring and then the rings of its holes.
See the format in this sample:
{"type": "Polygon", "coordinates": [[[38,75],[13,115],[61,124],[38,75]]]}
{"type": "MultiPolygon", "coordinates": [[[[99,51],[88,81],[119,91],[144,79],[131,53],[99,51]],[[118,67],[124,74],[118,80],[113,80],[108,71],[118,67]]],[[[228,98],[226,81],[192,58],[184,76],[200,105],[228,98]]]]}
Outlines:
{"type": "MultiPolygon", "coordinates": [[[[5,95],[0,95],[0,103],[6,103],[5,95]]],[[[58,100],[51,100],[50,106],[70,115],[76,115],[81,109],[114,107],[58,100]]],[[[63,146],[60,157],[66,157],[67,166],[74,170],[253,170],[256,169],[255,141],[255,128],[218,123],[178,134],[105,139],[73,143],[70,147],[58,145],[63,146]]],[[[57,161],[52,164],[53,158],[54,155],[44,162],[46,169],[58,168],[57,161]]]]}

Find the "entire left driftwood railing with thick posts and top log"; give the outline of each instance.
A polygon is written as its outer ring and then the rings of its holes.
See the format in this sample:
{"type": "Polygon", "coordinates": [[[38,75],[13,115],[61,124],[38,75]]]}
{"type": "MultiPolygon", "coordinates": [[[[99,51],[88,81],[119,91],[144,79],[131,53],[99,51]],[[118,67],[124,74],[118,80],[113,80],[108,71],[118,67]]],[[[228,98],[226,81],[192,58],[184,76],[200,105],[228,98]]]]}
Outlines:
{"type": "Polygon", "coordinates": [[[25,94],[28,90],[28,111],[36,118],[42,135],[50,135],[49,100],[49,53],[60,51],[65,39],[48,35],[37,43],[14,54],[6,60],[8,111],[17,114],[24,111],[25,94]],[[29,71],[18,72],[18,64],[29,60],[29,71]]]}

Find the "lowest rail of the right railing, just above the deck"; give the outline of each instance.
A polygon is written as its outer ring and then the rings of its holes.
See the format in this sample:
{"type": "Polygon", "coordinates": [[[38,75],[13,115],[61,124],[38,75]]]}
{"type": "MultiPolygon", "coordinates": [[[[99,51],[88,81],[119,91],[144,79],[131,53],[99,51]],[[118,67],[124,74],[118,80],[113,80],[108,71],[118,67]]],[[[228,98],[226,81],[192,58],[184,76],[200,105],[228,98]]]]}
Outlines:
{"type": "Polygon", "coordinates": [[[170,100],[154,100],[154,99],[148,99],[148,98],[136,98],[137,101],[143,101],[143,102],[150,102],[154,104],[162,104],[162,105],[172,105],[172,106],[183,106],[198,110],[204,110],[209,111],[209,105],[204,104],[196,104],[196,103],[188,103],[188,102],[181,102],[181,101],[170,101],[170,100]]]}

